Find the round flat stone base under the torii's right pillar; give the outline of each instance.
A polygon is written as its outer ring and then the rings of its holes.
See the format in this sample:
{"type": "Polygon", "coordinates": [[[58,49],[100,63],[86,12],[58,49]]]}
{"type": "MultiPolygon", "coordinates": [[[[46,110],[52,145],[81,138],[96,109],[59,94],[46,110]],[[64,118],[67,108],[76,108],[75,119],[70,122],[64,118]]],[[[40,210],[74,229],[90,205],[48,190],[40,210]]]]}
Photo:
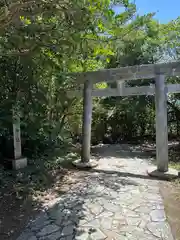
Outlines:
{"type": "Polygon", "coordinates": [[[160,172],[157,170],[157,167],[151,167],[147,170],[147,173],[149,176],[160,180],[172,180],[179,177],[178,171],[172,168],[169,168],[167,172],[160,172]]]}

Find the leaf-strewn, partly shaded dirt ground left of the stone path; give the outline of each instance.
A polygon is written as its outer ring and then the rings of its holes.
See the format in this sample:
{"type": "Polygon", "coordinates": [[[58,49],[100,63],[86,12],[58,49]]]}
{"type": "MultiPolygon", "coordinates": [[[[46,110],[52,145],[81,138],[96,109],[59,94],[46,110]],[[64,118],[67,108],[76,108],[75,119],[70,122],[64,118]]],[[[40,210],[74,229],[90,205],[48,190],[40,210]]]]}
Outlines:
{"type": "MultiPolygon", "coordinates": [[[[56,171],[45,175],[49,186],[35,189],[29,184],[12,184],[0,187],[0,240],[16,240],[27,223],[42,211],[44,205],[66,191],[69,171],[56,171]],[[50,177],[51,176],[51,177],[50,177]],[[51,178],[54,178],[52,182],[51,178]]],[[[72,174],[72,173],[71,173],[72,174]]],[[[34,185],[36,185],[34,181],[34,185]]]]}

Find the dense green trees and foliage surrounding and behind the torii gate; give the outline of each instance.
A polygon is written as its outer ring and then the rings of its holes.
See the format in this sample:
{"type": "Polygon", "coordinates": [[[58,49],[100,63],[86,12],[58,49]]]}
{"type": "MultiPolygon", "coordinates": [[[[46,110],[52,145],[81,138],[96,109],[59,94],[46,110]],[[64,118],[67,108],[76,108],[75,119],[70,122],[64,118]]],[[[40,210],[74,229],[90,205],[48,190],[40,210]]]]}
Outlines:
{"type": "MultiPolygon", "coordinates": [[[[1,149],[12,143],[14,105],[20,109],[26,154],[76,141],[81,136],[82,99],[67,95],[68,89],[79,87],[68,73],[178,60],[179,29],[180,19],[160,24],[151,13],[139,16],[128,0],[3,1],[1,149]],[[122,6],[120,14],[113,11],[116,4],[122,6]]],[[[168,98],[171,136],[179,135],[179,98],[179,94],[168,98]]],[[[154,97],[93,101],[93,143],[154,138],[154,97]]]]}

